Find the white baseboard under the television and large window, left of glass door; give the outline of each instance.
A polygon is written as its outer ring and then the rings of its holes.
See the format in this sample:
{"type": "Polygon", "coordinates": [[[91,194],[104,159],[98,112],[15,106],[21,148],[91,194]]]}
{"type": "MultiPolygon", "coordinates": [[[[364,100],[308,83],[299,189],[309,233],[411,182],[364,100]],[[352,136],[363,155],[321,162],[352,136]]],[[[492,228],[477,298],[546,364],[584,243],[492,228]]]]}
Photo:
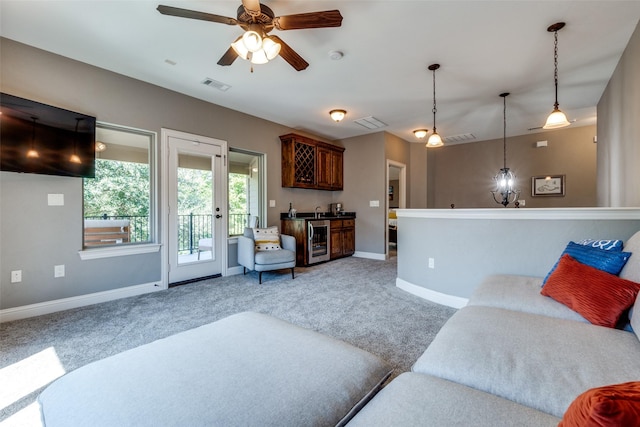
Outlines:
{"type": "Polygon", "coordinates": [[[6,308],[0,310],[0,323],[12,320],[26,319],[27,317],[41,316],[43,314],[55,313],[57,311],[69,310],[72,308],[84,307],[91,304],[113,301],[115,299],[142,295],[162,289],[160,282],[145,283],[142,285],[128,286],[121,289],[96,292],[77,297],[63,298],[53,301],[46,301],[37,304],[24,305],[21,307],[6,308]]]}

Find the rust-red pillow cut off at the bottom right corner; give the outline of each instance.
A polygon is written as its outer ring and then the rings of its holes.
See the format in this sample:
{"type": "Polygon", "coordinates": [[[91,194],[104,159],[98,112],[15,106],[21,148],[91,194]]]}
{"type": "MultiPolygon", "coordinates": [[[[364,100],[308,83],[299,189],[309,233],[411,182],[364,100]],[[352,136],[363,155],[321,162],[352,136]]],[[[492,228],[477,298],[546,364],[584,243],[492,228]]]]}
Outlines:
{"type": "Polygon", "coordinates": [[[637,426],[640,423],[640,382],[585,391],[571,402],[558,427],[637,426]]]}

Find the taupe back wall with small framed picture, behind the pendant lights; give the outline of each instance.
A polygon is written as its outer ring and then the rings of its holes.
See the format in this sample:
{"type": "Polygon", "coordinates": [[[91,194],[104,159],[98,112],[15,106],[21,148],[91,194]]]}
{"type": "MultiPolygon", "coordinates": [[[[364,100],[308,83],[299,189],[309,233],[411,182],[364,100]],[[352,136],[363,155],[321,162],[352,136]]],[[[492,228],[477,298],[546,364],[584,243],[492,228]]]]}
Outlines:
{"type": "MultiPolygon", "coordinates": [[[[507,138],[507,166],[516,174],[527,208],[596,206],[596,127],[568,127],[507,138]],[[537,141],[547,147],[536,148],[537,141]],[[565,175],[564,197],[532,197],[531,178],[565,175]]],[[[504,165],[501,139],[428,151],[429,208],[502,208],[490,193],[504,165]]],[[[512,205],[513,206],[513,205],[512,205]]]]}

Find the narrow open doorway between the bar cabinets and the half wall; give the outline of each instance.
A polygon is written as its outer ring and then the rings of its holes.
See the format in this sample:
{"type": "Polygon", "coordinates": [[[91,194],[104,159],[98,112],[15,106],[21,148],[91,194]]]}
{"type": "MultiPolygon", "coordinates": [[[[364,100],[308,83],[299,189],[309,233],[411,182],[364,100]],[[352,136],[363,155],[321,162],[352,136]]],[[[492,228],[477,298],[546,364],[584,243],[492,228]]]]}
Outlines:
{"type": "Polygon", "coordinates": [[[386,257],[396,256],[398,249],[398,220],[396,209],[406,208],[406,174],[407,166],[404,163],[387,159],[387,186],[389,197],[387,199],[386,216],[386,257]]]}

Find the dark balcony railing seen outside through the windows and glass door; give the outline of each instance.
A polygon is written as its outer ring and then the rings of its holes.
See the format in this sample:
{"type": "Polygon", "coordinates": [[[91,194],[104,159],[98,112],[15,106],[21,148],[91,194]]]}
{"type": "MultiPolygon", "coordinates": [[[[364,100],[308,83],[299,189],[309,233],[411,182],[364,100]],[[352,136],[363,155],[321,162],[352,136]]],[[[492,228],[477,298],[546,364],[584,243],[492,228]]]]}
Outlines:
{"type": "MultiPolygon", "coordinates": [[[[84,219],[127,219],[130,222],[131,243],[149,241],[149,217],[146,215],[101,215],[84,219]]],[[[244,233],[249,214],[229,214],[229,236],[244,233]]],[[[211,237],[211,215],[178,215],[178,253],[192,254],[198,250],[200,239],[211,237]]]]}

